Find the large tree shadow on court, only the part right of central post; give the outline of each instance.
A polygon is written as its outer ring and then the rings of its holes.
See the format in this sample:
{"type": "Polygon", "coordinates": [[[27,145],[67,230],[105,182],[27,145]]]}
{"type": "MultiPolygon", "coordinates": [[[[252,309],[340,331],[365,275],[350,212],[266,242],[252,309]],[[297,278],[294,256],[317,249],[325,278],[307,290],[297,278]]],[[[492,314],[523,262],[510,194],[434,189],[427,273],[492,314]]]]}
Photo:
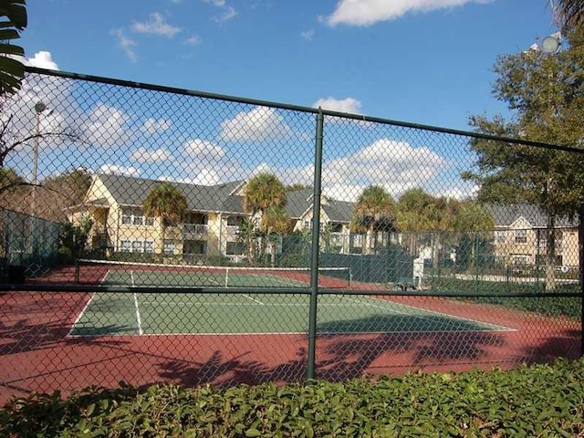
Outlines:
{"type": "Polygon", "coordinates": [[[479,363],[505,339],[480,323],[440,315],[385,315],[319,325],[318,378],[342,381],[371,367],[412,370],[479,363]],[[379,364],[375,364],[382,356],[379,364]]]}

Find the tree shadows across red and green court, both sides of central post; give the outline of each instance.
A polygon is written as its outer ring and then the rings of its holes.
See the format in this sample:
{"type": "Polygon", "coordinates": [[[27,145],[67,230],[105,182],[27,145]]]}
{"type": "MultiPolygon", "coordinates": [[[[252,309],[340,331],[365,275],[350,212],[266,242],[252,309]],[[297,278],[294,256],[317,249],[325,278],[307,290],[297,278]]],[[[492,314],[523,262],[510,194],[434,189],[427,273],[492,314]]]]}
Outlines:
{"type": "MultiPolygon", "coordinates": [[[[500,333],[485,325],[440,315],[424,316],[423,321],[418,321],[418,331],[406,331],[414,327],[412,318],[416,319],[405,315],[377,316],[318,325],[317,378],[344,381],[371,372],[371,367],[400,371],[452,363],[477,364],[488,358],[487,349],[505,342],[500,333]],[[381,364],[375,364],[376,360],[381,364]]],[[[199,362],[167,361],[159,375],[185,386],[304,381],[307,376],[305,347],[297,349],[294,358],[276,364],[251,359],[256,357],[253,351],[230,355],[216,349],[211,357],[199,362]]]]}

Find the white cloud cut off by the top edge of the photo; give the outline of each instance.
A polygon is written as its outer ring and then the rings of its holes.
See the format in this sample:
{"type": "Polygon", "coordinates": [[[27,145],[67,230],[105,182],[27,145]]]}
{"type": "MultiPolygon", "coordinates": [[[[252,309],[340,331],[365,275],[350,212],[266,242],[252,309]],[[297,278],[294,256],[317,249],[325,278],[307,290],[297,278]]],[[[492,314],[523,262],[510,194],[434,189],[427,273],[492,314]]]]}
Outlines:
{"type": "Polygon", "coordinates": [[[428,12],[467,3],[489,3],[493,0],[340,0],[330,16],[322,17],[329,26],[371,26],[394,20],[408,12],[428,12]]]}

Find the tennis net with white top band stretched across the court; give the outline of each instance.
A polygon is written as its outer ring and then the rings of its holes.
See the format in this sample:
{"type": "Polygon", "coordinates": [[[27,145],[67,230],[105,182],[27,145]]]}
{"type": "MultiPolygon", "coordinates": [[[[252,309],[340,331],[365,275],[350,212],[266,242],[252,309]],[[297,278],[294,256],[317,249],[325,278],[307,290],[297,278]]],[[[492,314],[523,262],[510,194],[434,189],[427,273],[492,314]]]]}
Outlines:
{"type": "MultiPolygon", "coordinates": [[[[131,287],[308,287],[308,267],[167,265],[79,259],[79,284],[131,287]]],[[[350,269],[318,268],[319,287],[350,287],[350,269]]]]}

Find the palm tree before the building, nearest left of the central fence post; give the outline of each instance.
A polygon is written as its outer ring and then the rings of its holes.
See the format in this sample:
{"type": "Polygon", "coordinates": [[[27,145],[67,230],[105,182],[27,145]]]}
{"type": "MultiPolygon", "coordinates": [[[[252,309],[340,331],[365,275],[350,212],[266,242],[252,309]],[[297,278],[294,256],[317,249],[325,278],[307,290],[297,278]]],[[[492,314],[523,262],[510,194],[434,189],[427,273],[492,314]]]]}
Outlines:
{"type": "MultiPolygon", "coordinates": [[[[261,242],[259,249],[259,259],[262,260],[266,254],[266,241],[269,230],[281,232],[280,225],[276,223],[283,221],[282,216],[286,214],[284,207],[287,202],[286,186],[277,179],[276,175],[268,172],[262,172],[255,175],[244,190],[244,210],[246,213],[261,215],[261,242]],[[272,216],[272,217],[271,217],[272,216]]],[[[287,216],[286,216],[287,217],[287,216]]],[[[248,249],[248,255],[252,252],[248,249]]],[[[255,258],[249,260],[255,262],[255,258]]]]}

